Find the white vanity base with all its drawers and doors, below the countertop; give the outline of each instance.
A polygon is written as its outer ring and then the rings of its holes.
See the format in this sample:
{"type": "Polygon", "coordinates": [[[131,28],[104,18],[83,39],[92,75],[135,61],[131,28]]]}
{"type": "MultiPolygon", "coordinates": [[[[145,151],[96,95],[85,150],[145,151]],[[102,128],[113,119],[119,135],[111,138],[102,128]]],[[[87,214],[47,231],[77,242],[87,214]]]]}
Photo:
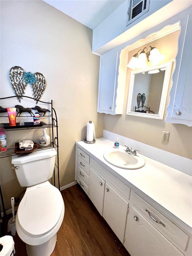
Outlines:
{"type": "Polygon", "coordinates": [[[78,146],[76,180],[131,256],[191,256],[192,234],[78,146]],[[81,165],[82,160],[88,167],[81,165]],[[83,180],[85,171],[88,177],[83,180]]]}

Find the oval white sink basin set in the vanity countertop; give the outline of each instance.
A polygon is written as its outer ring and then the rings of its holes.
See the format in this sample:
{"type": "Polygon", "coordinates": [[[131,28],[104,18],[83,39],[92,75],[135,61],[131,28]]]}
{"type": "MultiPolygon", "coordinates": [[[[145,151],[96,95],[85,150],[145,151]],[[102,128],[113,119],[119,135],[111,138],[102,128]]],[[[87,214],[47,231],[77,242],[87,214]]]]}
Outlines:
{"type": "Polygon", "coordinates": [[[103,157],[109,164],[123,169],[134,170],[145,165],[145,159],[142,156],[133,156],[125,150],[116,148],[105,151],[103,157]]]}

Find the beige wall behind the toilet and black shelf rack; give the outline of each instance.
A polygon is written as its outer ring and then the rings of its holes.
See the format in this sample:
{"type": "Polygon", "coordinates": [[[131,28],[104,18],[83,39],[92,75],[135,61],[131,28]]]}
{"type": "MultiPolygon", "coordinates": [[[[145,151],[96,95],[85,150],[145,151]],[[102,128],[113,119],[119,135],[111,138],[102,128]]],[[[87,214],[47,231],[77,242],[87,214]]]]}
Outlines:
{"type": "MultiPolygon", "coordinates": [[[[8,75],[14,65],[41,72],[47,80],[42,100],[53,99],[58,114],[60,181],[61,186],[69,184],[75,180],[75,142],[86,138],[89,120],[96,125],[96,137],[102,136],[103,114],[97,113],[99,57],[92,54],[92,30],[43,1],[1,1],[1,97],[14,95],[8,75]]],[[[32,96],[29,84],[25,95],[32,96]]],[[[28,107],[35,106],[31,103],[28,107]]],[[[41,133],[6,134],[13,146],[20,138],[36,140],[41,133]]],[[[23,190],[10,167],[11,158],[1,160],[7,209],[11,197],[23,190]]]]}

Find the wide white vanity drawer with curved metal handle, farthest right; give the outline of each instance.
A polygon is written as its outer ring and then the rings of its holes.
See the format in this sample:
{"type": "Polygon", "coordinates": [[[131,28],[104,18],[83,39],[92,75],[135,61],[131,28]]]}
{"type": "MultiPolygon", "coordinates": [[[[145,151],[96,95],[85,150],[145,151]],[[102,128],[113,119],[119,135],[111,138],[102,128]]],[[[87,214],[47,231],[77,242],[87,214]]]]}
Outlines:
{"type": "Polygon", "coordinates": [[[189,241],[189,236],[183,230],[177,227],[167,217],[161,214],[158,210],[156,210],[153,206],[147,203],[144,199],[142,199],[136,193],[133,193],[131,196],[133,196],[133,202],[136,208],[156,229],[158,229],[165,237],[167,237],[178,248],[182,248],[186,250],[186,247],[189,241]],[[149,213],[146,210],[150,212],[150,215],[155,220],[157,220],[158,222],[161,221],[165,226],[155,222],[149,216],[149,213]]]}

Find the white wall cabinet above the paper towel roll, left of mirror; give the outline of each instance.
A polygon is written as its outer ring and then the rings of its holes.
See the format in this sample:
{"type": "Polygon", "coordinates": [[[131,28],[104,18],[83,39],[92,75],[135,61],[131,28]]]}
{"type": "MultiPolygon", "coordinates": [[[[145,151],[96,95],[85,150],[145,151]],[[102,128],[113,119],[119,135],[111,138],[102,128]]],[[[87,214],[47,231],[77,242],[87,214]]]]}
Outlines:
{"type": "Polygon", "coordinates": [[[101,56],[97,112],[122,114],[124,85],[117,86],[119,52],[111,50],[101,56]]]}

